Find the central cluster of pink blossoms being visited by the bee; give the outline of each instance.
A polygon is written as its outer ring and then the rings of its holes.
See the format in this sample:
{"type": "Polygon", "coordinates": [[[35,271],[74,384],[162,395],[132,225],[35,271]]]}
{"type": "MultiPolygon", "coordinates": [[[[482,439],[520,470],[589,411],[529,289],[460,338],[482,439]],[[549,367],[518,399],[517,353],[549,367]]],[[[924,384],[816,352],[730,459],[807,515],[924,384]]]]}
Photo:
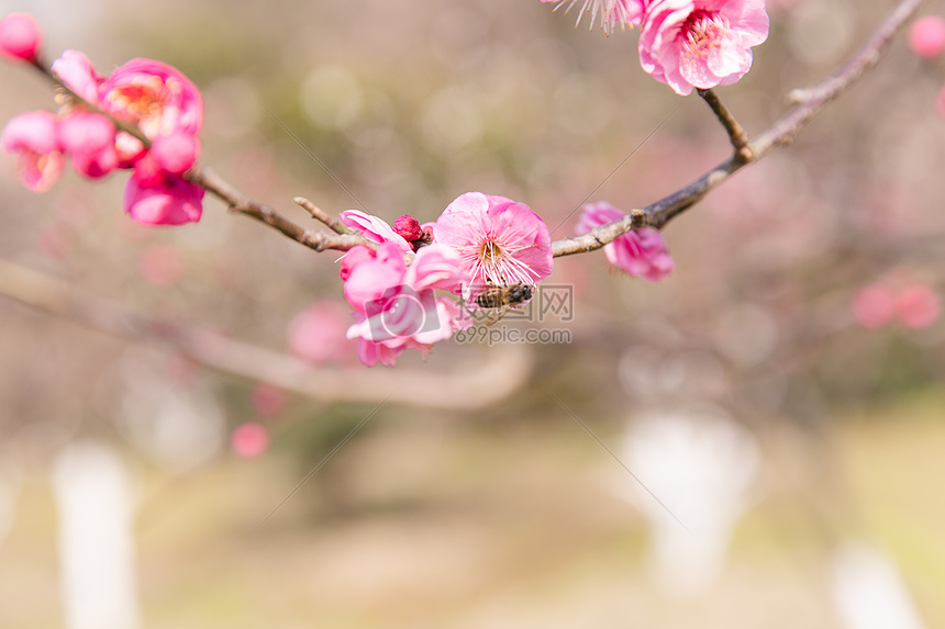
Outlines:
{"type": "Polygon", "coordinates": [[[472,325],[466,308],[490,285],[534,285],[552,272],[547,225],[526,205],[504,196],[468,192],[435,223],[412,216],[390,227],[358,211],[343,212],[345,225],[378,243],[357,246],[341,263],[345,297],[355,310],[348,338],[368,366],[393,366],[404,349],[422,352],[472,325]],[[415,251],[408,266],[404,254],[415,251]],[[436,296],[434,291],[462,295],[436,296]]]}

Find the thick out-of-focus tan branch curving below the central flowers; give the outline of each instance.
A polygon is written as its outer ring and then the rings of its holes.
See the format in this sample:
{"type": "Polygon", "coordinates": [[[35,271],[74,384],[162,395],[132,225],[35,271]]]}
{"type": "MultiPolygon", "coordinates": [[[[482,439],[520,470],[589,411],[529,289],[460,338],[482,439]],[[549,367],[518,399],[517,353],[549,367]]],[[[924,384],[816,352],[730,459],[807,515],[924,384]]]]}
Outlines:
{"type": "Polygon", "coordinates": [[[159,318],[123,304],[84,294],[66,282],[0,259],[0,294],[40,311],[133,341],[180,351],[214,370],[322,402],[383,400],[443,409],[476,409],[522,386],[532,370],[526,348],[509,346],[490,360],[442,370],[313,368],[285,353],[218,333],[159,318]]]}

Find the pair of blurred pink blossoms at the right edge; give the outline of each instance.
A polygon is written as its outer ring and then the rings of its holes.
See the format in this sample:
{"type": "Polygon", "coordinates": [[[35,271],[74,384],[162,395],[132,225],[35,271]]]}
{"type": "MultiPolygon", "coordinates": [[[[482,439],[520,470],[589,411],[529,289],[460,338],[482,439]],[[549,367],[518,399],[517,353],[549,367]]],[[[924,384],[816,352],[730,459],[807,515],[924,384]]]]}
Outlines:
{"type": "Polygon", "coordinates": [[[877,329],[897,321],[909,329],[931,326],[942,315],[942,300],[932,288],[911,280],[881,280],[863,287],[850,304],[856,322],[877,329]]]}

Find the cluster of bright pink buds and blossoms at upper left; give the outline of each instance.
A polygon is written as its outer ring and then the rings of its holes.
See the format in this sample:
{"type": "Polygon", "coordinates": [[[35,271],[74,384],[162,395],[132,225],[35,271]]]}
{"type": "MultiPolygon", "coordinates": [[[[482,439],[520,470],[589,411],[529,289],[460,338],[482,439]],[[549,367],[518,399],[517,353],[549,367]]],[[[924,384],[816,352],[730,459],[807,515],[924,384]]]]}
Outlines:
{"type": "MultiPolygon", "coordinates": [[[[29,15],[0,22],[5,56],[35,61],[38,45],[40,31],[29,15]]],[[[108,115],[69,99],[58,113],[23,113],[3,128],[0,145],[19,154],[24,184],[48,190],[67,158],[88,179],[129,169],[124,209],[133,220],[147,225],[199,221],[204,190],[182,177],[200,150],[203,101],[197,87],[176,68],[152,59],[132,59],[103,77],[77,50],[56,59],[53,72],[87,103],[136,125],[151,146],[116,128],[108,115]]]]}

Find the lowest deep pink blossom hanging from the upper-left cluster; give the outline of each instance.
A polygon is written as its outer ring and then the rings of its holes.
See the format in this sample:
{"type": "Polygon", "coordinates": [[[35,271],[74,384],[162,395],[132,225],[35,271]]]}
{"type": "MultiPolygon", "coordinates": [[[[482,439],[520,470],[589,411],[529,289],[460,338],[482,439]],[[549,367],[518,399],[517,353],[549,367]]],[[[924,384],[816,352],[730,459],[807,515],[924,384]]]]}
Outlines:
{"type": "Polygon", "coordinates": [[[180,178],[143,186],[131,177],[124,189],[124,210],[144,225],[181,225],[200,221],[203,188],[180,178]]]}

